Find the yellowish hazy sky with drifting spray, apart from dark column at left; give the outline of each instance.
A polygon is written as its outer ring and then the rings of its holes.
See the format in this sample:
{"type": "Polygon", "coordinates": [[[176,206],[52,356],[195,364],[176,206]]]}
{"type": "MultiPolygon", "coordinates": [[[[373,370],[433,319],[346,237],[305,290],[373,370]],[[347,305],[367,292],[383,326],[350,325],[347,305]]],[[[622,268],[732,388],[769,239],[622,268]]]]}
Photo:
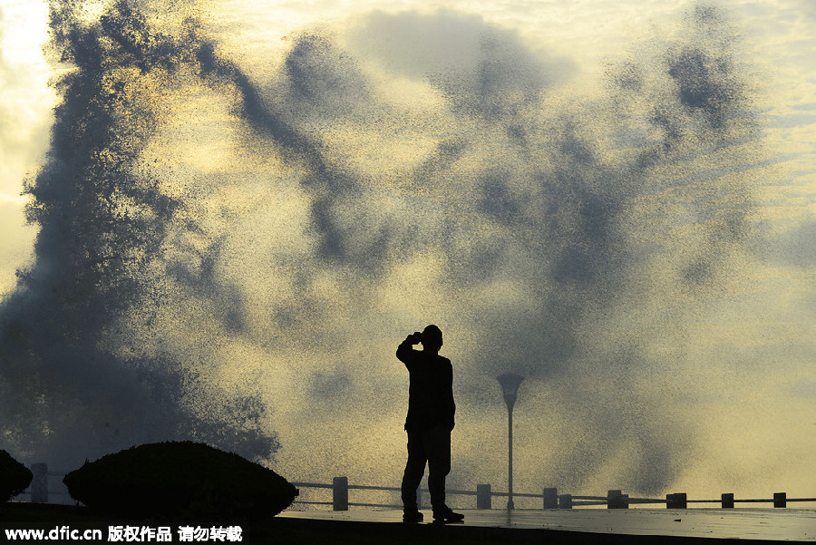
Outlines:
{"type": "MultiPolygon", "coordinates": [[[[132,4],[170,36],[194,17],[224,63],[218,83],[106,68],[143,107],[113,116],[139,142],[129,172],[180,211],[139,273],[160,303],[94,329],[104,354],[257,395],[291,479],[384,485],[393,350],[437,322],[454,485],[506,486],[493,377],[514,370],[517,490],[816,491],[816,3],[132,4]]],[[[41,51],[45,3],[0,17],[9,312],[15,271],[51,263],[21,192],[71,68],[41,51]]],[[[185,410],[222,411],[207,395],[185,410]]],[[[21,455],[57,448],[9,429],[21,455]]]]}

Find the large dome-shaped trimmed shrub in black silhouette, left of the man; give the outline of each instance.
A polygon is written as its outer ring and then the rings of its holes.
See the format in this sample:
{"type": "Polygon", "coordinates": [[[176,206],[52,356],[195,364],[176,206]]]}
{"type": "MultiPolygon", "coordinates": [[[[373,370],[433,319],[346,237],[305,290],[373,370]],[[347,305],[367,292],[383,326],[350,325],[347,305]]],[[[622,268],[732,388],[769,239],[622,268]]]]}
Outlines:
{"type": "Polygon", "coordinates": [[[129,517],[264,520],[297,489],[276,472],[202,443],[135,446],[65,475],[74,500],[129,517]]]}

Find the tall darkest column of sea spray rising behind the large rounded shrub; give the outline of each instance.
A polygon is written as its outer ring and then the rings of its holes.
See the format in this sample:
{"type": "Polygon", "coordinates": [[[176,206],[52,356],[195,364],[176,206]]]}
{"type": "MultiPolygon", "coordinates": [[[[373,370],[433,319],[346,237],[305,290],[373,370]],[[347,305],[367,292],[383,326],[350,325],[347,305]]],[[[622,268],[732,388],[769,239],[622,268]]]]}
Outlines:
{"type": "Polygon", "coordinates": [[[227,329],[241,328],[240,305],[214,272],[217,243],[194,268],[162,264],[184,204],[139,174],[157,122],[155,90],[144,83],[172,85],[193,65],[194,48],[151,28],[127,2],[93,24],[81,11],[74,3],[51,9],[52,46],[75,69],[58,83],[51,149],[27,189],[40,228],[35,262],[0,309],[4,443],[63,470],[133,443],[179,438],[267,458],[277,439],[259,428],[266,409],[252,393],[230,396],[202,380],[196,366],[206,354],[119,353],[162,304],[156,266],[212,295],[227,329]],[[128,323],[133,316],[141,323],[128,323]]]}

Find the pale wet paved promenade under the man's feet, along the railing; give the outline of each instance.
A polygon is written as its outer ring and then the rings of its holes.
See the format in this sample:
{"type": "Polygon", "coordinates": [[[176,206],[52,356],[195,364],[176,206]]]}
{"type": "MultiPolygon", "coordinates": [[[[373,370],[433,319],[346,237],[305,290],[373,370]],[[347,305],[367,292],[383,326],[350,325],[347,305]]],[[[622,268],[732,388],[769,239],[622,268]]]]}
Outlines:
{"type": "MultiPolygon", "coordinates": [[[[464,513],[464,524],[455,525],[461,530],[451,527],[450,531],[461,531],[474,537],[504,536],[512,540],[520,538],[540,542],[547,542],[548,538],[557,538],[555,541],[568,542],[568,538],[574,534],[576,538],[578,535],[583,535],[589,540],[597,538],[597,542],[617,542],[627,536],[663,536],[672,538],[670,541],[673,542],[689,543],[701,539],[714,542],[729,540],[816,542],[816,510],[808,509],[457,511],[464,513]]],[[[431,512],[423,512],[425,520],[431,521],[431,512]]],[[[387,528],[394,531],[416,531],[406,528],[416,525],[404,524],[401,520],[401,511],[393,510],[352,508],[351,511],[284,511],[278,517],[303,521],[345,521],[359,525],[361,531],[365,530],[365,524],[375,525],[378,529],[386,528],[384,525],[387,525],[387,528]]],[[[419,526],[437,527],[431,524],[419,526]]]]}

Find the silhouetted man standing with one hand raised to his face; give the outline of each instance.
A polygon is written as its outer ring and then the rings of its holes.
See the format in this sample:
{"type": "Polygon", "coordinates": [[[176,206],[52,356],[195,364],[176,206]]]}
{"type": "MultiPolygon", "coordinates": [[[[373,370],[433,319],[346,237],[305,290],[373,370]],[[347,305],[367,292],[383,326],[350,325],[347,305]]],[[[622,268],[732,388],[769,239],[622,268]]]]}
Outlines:
{"type": "Polygon", "coordinates": [[[397,358],[408,368],[408,462],[403,474],[403,521],[420,522],[423,513],[416,503],[416,489],[428,462],[428,490],[434,522],[461,522],[464,516],[445,505],[445,477],[451,472],[451,432],[453,414],[453,366],[439,355],[442,331],[427,326],[422,333],[405,337],[397,348],[397,358]],[[413,345],[422,343],[423,350],[413,345]]]}

